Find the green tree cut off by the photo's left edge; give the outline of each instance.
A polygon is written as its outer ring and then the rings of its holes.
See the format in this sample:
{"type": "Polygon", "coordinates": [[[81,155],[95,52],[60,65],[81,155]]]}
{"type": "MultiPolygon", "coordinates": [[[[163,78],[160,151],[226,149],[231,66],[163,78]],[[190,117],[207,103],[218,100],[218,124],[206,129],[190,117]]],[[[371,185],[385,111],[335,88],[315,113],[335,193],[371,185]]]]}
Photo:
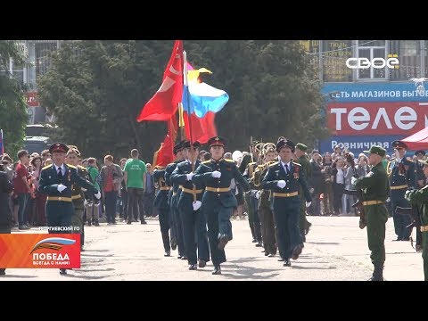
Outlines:
{"type": "Polygon", "coordinates": [[[29,122],[27,103],[21,84],[9,73],[9,62],[24,64],[26,56],[20,42],[0,41],[0,128],[4,133],[4,152],[16,159],[25,137],[25,126],[29,122]]]}

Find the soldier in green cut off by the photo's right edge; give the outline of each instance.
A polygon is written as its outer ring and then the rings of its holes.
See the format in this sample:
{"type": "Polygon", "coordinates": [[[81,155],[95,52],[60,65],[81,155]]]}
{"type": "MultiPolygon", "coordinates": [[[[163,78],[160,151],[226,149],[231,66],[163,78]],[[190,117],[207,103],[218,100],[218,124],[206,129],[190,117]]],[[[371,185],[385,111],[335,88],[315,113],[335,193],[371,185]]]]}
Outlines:
{"type": "MultiPolygon", "coordinates": [[[[418,160],[424,168],[424,175],[428,177],[428,161],[418,160]]],[[[416,224],[416,228],[422,234],[422,259],[424,259],[424,281],[428,281],[428,184],[424,185],[421,189],[407,190],[406,200],[410,204],[417,207],[418,218],[420,224],[416,224]],[[418,226],[420,225],[420,226],[418,226]]]]}

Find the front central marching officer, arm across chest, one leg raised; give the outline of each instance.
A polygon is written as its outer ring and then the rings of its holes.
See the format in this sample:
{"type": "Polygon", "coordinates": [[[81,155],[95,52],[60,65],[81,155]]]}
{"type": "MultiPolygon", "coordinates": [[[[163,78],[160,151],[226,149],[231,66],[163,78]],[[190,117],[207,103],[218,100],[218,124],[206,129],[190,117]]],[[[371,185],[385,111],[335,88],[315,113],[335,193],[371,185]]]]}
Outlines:
{"type": "Polygon", "coordinates": [[[210,252],[214,264],[213,275],[220,275],[220,264],[226,262],[225,246],[232,240],[232,223],[230,218],[237,206],[234,193],[230,190],[233,178],[244,191],[250,190],[250,185],[243,178],[235,161],[223,159],[225,139],[219,136],[211,137],[210,161],[203,161],[192,177],[195,185],[205,185],[202,196],[202,212],[207,219],[210,252]]]}

